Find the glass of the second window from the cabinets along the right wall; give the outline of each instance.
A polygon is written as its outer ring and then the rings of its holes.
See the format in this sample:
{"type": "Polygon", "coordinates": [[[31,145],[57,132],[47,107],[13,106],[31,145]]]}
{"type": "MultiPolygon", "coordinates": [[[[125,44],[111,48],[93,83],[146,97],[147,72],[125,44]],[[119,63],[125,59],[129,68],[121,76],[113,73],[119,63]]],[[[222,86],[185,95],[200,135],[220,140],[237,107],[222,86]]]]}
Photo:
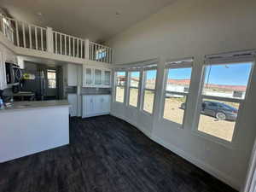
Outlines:
{"type": "Polygon", "coordinates": [[[129,105],[137,108],[139,96],[140,72],[130,72],[129,105]]]}

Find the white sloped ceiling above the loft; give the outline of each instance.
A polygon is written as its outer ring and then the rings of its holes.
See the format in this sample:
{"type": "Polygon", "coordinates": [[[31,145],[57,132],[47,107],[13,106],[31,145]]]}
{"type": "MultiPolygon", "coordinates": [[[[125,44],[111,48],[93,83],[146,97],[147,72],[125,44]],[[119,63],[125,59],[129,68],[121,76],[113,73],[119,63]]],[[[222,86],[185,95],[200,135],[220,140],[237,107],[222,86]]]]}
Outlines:
{"type": "Polygon", "coordinates": [[[0,7],[15,19],[100,42],[174,1],[177,0],[1,0],[0,7]]]}

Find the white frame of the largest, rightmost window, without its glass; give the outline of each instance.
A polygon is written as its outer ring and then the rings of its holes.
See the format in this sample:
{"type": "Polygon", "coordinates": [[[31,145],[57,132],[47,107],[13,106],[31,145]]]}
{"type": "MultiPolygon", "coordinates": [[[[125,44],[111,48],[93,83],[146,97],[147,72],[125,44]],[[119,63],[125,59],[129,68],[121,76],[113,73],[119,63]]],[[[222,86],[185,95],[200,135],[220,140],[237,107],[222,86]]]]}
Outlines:
{"type": "Polygon", "coordinates": [[[256,60],[253,57],[252,58],[230,58],[229,60],[218,60],[218,61],[205,61],[205,63],[201,66],[202,67],[202,71],[201,71],[201,83],[200,83],[200,90],[199,90],[199,94],[197,96],[197,101],[196,101],[196,107],[195,107],[195,115],[194,115],[194,122],[192,125],[192,131],[194,132],[195,135],[200,136],[200,137],[204,137],[209,141],[212,141],[214,143],[218,143],[221,145],[224,145],[227,148],[234,148],[235,143],[236,143],[236,136],[237,136],[237,132],[239,131],[239,124],[241,124],[241,113],[243,113],[243,106],[244,106],[244,102],[247,100],[247,95],[248,95],[248,90],[250,90],[250,86],[252,84],[252,78],[253,78],[253,70],[255,68],[255,63],[256,60]],[[217,65],[229,65],[229,64],[241,64],[241,63],[252,63],[252,67],[251,67],[251,71],[249,74],[249,78],[248,78],[248,82],[247,82],[247,89],[246,89],[246,94],[244,99],[236,99],[236,98],[229,98],[229,97],[222,97],[222,96],[206,96],[203,95],[203,88],[204,88],[204,84],[205,84],[205,77],[206,77],[206,73],[207,73],[207,66],[217,66],[217,65]],[[212,136],[210,134],[207,134],[203,131],[199,131],[199,123],[200,123],[200,116],[201,116],[201,103],[203,101],[203,99],[213,99],[213,100],[217,100],[220,102],[237,102],[239,103],[239,108],[238,108],[238,112],[237,112],[237,117],[236,117],[236,124],[234,126],[234,132],[233,132],[233,136],[231,141],[227,141],[223,138],[220,137],[215,137],[212,136]]]}

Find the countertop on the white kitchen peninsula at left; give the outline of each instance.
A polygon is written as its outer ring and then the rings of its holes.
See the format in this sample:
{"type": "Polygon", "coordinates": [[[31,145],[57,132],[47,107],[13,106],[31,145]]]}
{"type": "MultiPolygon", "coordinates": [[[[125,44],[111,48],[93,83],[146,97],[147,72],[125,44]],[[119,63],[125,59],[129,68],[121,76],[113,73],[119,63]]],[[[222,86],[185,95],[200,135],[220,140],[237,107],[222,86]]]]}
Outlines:
{"type": "Polygon", "coordinates": [[[69,107],[67,100],[54,100],[54,101],[36,101],[36,102],[13,102],[12,107],[0,109],[0,113],[20,111],[24,109],[35,108],[60,108],[69,107]]]}

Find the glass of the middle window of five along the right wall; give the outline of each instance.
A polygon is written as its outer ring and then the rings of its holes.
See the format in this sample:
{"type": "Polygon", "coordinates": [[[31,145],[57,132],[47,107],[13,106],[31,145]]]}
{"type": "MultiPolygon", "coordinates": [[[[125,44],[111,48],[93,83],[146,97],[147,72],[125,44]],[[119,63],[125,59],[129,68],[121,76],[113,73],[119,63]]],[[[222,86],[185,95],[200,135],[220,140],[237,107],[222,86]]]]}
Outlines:
{"type": "Polygon", "coordinates": [[[143,111],[150,114],[154,111],[156,73],[156,69],[144,70],[143,111]]]}

